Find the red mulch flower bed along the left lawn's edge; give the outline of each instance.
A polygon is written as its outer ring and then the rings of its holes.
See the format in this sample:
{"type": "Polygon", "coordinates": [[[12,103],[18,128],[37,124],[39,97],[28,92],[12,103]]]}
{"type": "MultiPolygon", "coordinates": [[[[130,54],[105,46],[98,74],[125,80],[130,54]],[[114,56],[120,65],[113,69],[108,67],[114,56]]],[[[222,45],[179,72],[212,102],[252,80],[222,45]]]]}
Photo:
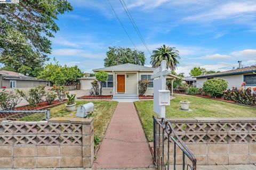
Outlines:
{"type": "Polygon", "coordinates": [[[52,107],[61,105],[61,104],[66,103],[66,102],[67,102],[67,99],[65,99],[62,102],[60,102],[58,100],[54,100],[51,105],[48,105],[46,101],[42,101],[37,106],[26,105],[26,106],[16,107],[15,111],[44,110],[44,109],[48,109],[48,108],[52,108],[52,107]]]}

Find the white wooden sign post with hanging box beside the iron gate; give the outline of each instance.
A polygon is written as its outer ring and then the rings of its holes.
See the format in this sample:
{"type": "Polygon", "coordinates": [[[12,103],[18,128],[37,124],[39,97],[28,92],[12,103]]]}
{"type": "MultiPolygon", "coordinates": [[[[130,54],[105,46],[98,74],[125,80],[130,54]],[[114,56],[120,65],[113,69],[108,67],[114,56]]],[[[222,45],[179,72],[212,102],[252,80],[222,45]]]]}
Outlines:
{"type": "Polygon", "coordinates": [[[171,71],[166,70],[166,61],[161,62],[161,66],[154,70],[154,112],[160,117],[165,117],[165,106],[170,105],[170,90],[166,90],[166,75],[171,71]]]}

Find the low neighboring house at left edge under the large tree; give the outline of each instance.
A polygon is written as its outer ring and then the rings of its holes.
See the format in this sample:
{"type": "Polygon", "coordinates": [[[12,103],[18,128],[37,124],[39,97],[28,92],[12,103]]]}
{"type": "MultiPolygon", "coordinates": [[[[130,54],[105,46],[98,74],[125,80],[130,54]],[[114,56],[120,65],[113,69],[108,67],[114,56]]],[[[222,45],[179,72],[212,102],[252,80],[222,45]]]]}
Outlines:
{"type": "Polygon", "coordinates": [[[33,88],[39,85],[50,87],[50,81],[28,77],[13,71],[0,71],[1,88],[33,88]]]}

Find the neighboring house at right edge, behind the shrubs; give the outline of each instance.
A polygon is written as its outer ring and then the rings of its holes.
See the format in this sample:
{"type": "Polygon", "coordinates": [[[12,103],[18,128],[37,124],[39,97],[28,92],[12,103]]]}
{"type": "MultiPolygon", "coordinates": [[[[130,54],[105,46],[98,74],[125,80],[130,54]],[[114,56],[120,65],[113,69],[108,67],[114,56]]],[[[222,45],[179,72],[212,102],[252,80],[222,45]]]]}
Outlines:
{"type": "Polygon", "coordinates": [[[232,89],[232,87],[241,88],[243,82],[246,82],[246,88],[256,87],[256,66],[242,67],[239,61],[239,67],[237,69],[233,67],[233,70],[199,75],[195,78],[197,88],[202,88],[204,81],[215,78],[227,80],[228,89],[232,89]]]}

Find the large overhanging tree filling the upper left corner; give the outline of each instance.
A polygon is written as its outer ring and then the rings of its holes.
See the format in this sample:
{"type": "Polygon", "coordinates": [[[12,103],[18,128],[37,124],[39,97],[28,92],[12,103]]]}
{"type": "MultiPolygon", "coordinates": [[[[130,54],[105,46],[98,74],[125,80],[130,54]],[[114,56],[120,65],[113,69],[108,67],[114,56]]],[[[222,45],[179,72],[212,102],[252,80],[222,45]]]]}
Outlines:
{"type": "Polygon", "coordinates": [[[0,5],[0,62],[36,77],[51,54],[58,15],[73,10],[67,0],[22,0],[0,5]]]}

